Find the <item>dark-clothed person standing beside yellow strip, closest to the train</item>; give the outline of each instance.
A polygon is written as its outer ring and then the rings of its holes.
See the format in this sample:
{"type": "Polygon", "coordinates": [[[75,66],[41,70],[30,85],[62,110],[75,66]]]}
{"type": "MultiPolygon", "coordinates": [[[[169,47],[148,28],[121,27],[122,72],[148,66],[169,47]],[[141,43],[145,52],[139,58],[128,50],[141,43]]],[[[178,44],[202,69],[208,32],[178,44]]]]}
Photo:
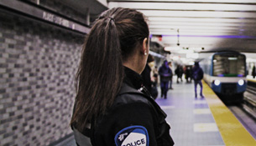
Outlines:
{"type": "Polygon", "coordinates": [[[200,96],[201,98],[204,98],[203,94],[202,94],[202,83],[201,83],[201,79],[204,76],[204,72],[202,71],[200,65],[198,62],[195,63],[194,68],[192,69],[192,77],[194,79],[194,85],[195,85],[195,98],[197,98],[197,84],[200,85],[200,96]]]}

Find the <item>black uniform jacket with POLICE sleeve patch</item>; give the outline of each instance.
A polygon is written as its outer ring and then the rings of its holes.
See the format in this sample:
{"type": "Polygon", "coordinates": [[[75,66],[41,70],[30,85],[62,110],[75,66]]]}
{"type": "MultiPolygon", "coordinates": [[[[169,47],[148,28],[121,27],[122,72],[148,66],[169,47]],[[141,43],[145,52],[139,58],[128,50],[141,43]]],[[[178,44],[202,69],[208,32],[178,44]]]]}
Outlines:
{"type": "MultiPolygon", "coordinates": [[[[142,79],[138,73],[125,68],[126,77],[107,113],[91,125],[93,146],[172,146],[170,125],[166,114],[141,88],[142,79]],[[135,135],[135,136],[134,136],[135,135]],[[137,138],[137,139],[136,139],[137,138]]],[[[85,133],[85,132],[84,132],[85,133]]]]}

